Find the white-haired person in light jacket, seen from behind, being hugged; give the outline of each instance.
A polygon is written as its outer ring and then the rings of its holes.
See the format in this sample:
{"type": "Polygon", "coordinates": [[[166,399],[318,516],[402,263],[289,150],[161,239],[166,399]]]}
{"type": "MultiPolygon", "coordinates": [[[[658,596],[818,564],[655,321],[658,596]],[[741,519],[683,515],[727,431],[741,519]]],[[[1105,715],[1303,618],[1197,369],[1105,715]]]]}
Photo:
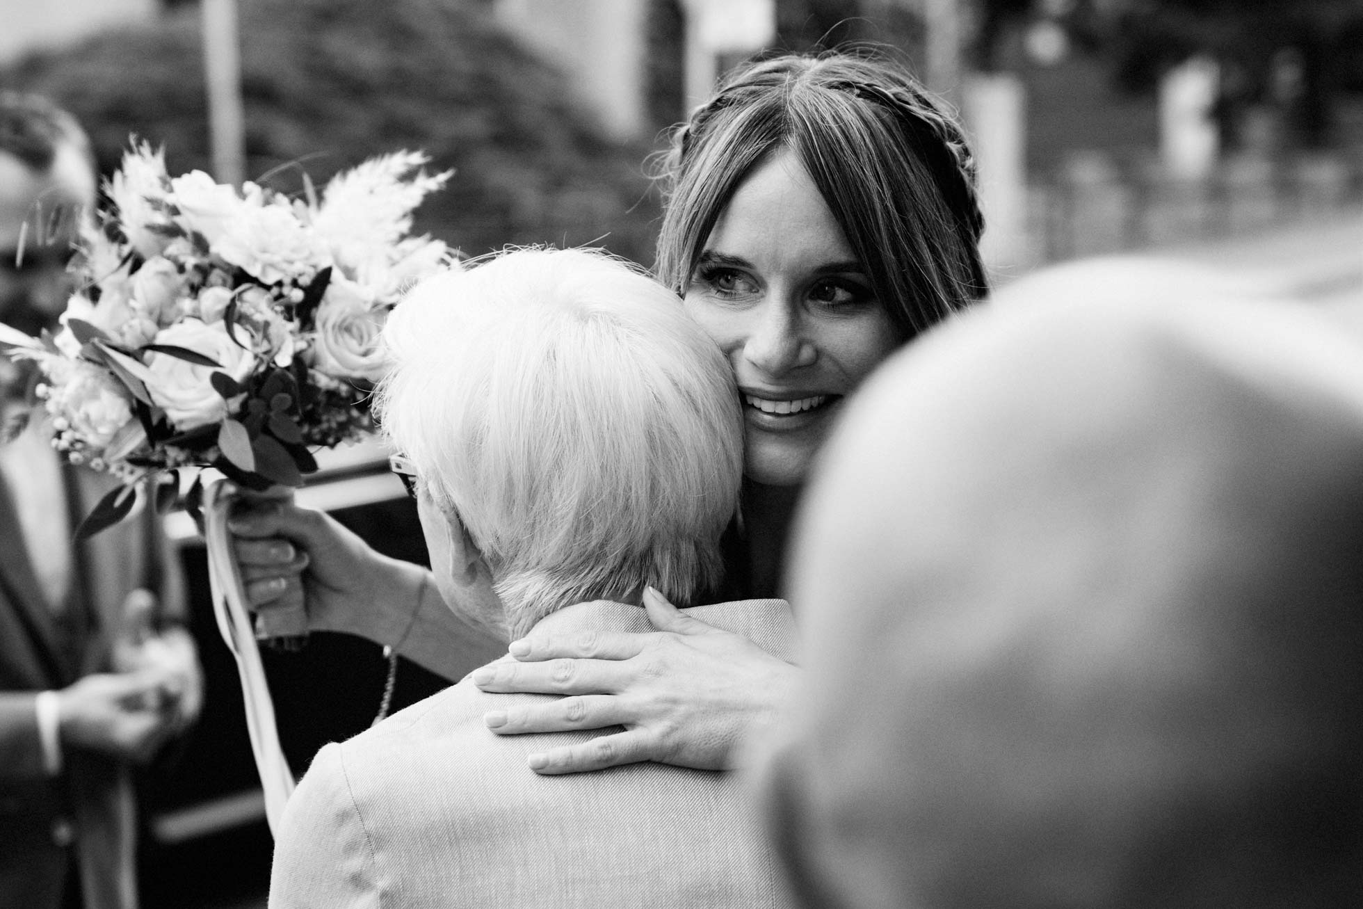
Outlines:
{"type": "MultiPolygon", "coordinates": [[[[383,339],[380,422],[436,585],[472,621],[587,641],[720,582],[741,418],[722,353],[669,290],[604,255],[510,252],[418,285],[383,339]]],[[[789,657],[782,601],[694,612],[789,657]]],[[[270,905],[774,905],[729,775],[537,777],[530,752],[601,730],[488,735],[485,714],[548,700],[465,679],[323,748],[285,814],[270,905]]]]}

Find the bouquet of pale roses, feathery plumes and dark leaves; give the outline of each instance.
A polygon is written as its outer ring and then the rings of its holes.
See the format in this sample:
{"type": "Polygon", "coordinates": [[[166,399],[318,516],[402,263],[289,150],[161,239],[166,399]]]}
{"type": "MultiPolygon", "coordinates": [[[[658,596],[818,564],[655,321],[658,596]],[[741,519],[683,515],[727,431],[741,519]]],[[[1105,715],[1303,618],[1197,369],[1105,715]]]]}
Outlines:
{"type": "MultiPolygon", "coordinates": [[[[55,335],[0,334],[35,360],[34,391],[75,463],[124,485],[80,536],[124,518],[149,485],[176,500],[176,467],[211,466],[249,489],[297,487],[309,448],[371,428],[368,395],[387,311],[412,281],[453,259],[408,237],[412,211],[448,173],[397,153],[333,179],[320,198],[203,172],[170,177],[149,146],[127,153],[87,219],[74,268],[80,286],[55,335]]],[[[0,328],[3,330],[3,328],[0,328]]],[[[196,508],[198,480],[187,496],[196,508]]]]}

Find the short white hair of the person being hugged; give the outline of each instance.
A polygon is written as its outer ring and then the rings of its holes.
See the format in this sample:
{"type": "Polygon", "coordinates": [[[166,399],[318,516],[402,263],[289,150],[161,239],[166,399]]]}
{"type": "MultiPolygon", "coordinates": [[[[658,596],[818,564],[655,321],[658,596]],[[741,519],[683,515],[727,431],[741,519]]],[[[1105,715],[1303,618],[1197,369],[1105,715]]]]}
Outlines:
{"type": "Polygon", "coordinates": [[[492,570],[512,635],[572,602],[716,585],[733,373],[680,298],[600,251],[512,249],[416,285],[376,413],[492,570]]]}

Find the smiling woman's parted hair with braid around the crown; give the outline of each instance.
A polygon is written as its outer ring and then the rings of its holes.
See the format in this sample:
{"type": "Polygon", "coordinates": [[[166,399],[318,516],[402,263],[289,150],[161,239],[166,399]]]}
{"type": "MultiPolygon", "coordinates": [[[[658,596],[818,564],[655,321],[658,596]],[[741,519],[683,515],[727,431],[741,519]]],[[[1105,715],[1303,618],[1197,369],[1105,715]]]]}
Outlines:
{"type": "Polygon", "coordinates": [[[908,72],[845,52],[733,71],[676,127],[660,174],[658,277],[686,293],[739,184],[789,149],[842,228],[904,339],[984,296],[984,217],[961,128],[908,72]]]}

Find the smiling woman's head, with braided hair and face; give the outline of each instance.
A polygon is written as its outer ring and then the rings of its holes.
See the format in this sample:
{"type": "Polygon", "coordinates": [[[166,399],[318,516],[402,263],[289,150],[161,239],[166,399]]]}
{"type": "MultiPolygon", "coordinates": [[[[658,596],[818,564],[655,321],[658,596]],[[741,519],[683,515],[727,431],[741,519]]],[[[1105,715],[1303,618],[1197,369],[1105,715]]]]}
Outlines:
{"type": "Polygon", "coordinates": [[[747,64],[677,129],[657,273],[729,357],[750,480],[797,485],[844,395],[984,293],[973,161],[898,67],[747,64]]]}

